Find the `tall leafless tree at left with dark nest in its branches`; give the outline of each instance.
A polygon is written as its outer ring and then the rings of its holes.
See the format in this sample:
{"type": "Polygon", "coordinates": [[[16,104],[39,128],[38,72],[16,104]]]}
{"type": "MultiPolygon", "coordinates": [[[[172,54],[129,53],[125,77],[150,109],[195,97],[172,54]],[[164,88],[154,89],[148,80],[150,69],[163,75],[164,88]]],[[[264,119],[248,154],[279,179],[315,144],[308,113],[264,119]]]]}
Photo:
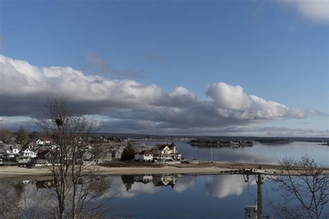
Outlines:
{"type": "Polygon", "coordinates": [[[49,153],[49,169],[58,199],[58,218],[67,214],[79,218],[89,194],[79,183],[88,170],[92,171],[84,159],[92,149],[89,140],[95,126],[84,114],[74,114],[60,98],[49,100],[46,109],[37,123],[56,143],[49,153]]]}

